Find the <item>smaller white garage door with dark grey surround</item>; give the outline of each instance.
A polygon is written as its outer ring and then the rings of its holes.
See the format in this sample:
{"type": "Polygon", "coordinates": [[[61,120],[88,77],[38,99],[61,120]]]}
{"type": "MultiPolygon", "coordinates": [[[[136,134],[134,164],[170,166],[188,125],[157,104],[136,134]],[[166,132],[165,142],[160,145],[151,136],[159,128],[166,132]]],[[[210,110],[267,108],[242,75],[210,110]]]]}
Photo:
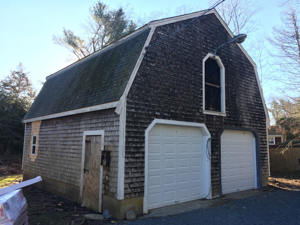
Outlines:
{"type": "Polygon", "coordinates": [[[252,132],[225,130],[221,135],[222,193],[253,189],[254,169],[252,132]]]}

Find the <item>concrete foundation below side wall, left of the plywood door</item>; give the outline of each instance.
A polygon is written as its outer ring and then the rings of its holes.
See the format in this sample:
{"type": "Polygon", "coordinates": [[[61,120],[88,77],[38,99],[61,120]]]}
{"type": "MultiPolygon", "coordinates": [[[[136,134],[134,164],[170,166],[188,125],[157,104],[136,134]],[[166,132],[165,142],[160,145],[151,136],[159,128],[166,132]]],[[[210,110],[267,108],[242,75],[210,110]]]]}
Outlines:
{"type": "MultiPolygon", "coordinates": [[[[39,175],[23,170],[23,181],[30,180],[37,176],[39,175]]],[[[64,197],[66,199],[70,199],[73,202],[77,202],[81,204],[80,187],[74,186],[72,184],[60,182],[57,180],[53,180],[44,176],[41,177],[43,180],[38,183],[35,183],[34,184],[35,187],[41,188],[43,190],[49,191],[51,193],[57,194],[58,196],[64,197]]]]}

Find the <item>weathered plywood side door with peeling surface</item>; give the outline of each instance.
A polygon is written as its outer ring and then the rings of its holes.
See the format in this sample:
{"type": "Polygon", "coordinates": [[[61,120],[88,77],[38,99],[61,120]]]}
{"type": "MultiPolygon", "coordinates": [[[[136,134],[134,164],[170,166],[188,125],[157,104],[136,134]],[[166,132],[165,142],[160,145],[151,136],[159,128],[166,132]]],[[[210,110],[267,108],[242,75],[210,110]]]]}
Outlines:
{"type": "Polygon", "coordinates": [[[83,169],[82,205],[101,212],[101,136],[85,137],[85,156],[83,169]]]}

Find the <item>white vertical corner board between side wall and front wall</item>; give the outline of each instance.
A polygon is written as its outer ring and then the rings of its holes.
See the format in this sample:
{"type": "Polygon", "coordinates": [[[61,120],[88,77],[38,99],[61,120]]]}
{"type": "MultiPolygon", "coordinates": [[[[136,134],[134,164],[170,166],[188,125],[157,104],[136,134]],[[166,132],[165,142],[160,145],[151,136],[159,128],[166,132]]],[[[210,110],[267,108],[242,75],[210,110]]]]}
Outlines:
{"type": "Polygon", "coordinates": [[[124,199],[126,101],[120,112],[117,199],[124,199]]]}

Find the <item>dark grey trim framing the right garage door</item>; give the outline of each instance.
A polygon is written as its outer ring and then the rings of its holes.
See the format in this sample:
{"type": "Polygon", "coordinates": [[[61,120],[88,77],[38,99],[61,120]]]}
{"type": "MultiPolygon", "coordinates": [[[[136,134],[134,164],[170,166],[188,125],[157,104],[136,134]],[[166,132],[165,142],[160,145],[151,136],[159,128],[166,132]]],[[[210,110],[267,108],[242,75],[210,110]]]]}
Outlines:
{"type": "Polygon", "coordinates": [[[262,179],[261,179],[261,160],[260,160],[260,137],[257,133],[255,128],[244,128],[244,127],[231,127],[231,126],[224,126],[219,133],[219,177],[220,177],[220,197],[223,196],[222,193],[222,176],[221,176],[221,135],[223,134],[224,130],[236,130],[236,131],[251,131],[254,139],[255,139],[255,159],[256,159],[256,174],[255,175],[255,182],[254,188],[262,189],[262,179]],[[256,184],[256,185],[255,185],[256,184]]]}

